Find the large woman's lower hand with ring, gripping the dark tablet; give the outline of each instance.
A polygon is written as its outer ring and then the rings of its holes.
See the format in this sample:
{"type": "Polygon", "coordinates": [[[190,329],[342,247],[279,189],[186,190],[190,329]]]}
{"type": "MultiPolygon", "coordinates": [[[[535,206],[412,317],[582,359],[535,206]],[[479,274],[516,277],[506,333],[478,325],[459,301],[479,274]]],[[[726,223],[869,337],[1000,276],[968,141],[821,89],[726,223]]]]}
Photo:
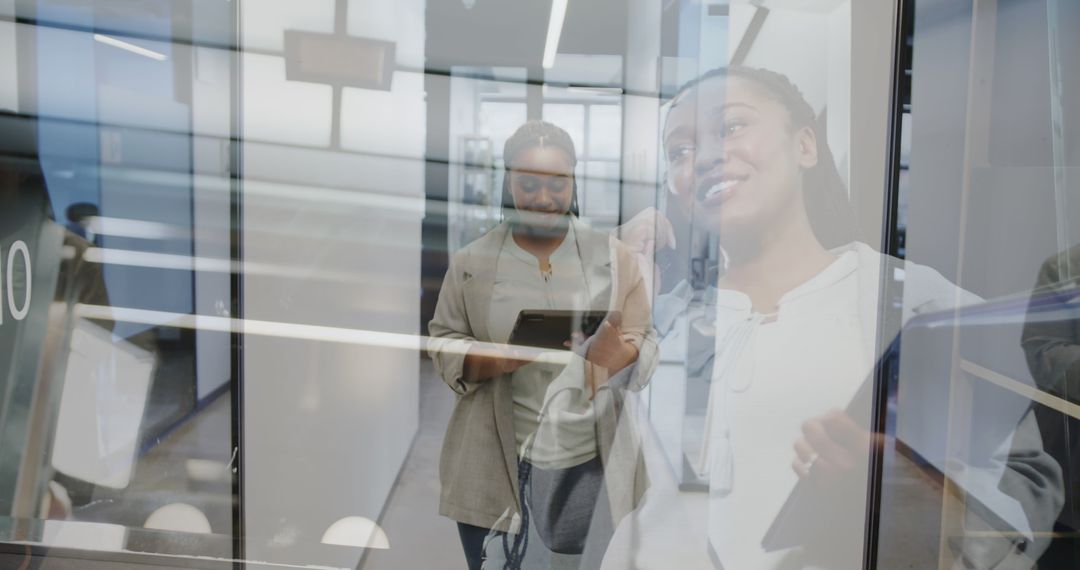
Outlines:
{"type": "Polygon", "coordinates": [[[833,410],[802,423],[792,469],[819,483],[848,481],[864,473],[874,440],[850,416],[833,410]]]}

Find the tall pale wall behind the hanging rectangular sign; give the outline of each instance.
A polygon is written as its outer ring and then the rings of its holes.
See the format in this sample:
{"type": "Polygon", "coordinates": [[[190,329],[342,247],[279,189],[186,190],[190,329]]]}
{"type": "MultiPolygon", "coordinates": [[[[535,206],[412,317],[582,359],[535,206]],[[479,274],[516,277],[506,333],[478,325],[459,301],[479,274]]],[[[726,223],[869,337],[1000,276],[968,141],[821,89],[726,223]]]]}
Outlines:
{"type": "MultiPolygon", "coordinates": [[[[332,31],[292,4],[245,4],[245,38],[280,50],[296,18],[332,31]]],[[[423,5],[351,2],[349,33],[396,42],[399,67],[416,69],[423,5]]],[[[399,70],[390,92],[345,90],[342,149],[329,150],[329,87],[285,81],[273,54],[245,63],[244,259],[276,270],[245,272],[244,317],[417,335],[422,77],[399,70]]],[[[319,541],[346,516],[378,518],[417,430],[418,351],[247,335],[243,364],[248,558],[355,566],[356,551],[319,541]]]]}

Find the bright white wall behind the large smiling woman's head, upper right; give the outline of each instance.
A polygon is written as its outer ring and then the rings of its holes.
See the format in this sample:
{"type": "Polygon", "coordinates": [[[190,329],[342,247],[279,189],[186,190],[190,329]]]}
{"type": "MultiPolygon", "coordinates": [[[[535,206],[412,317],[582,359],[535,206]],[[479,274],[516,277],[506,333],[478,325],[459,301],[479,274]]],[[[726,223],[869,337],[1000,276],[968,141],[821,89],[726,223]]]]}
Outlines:
{"type": "MultiPolygon", "coordinates": [[[[826,130],[841,178],[848,184],[862,239],[880,247],[890,116],[894,3],[887,0],[766,2],[769,15],[745,65],[787,76],[826,130]]],[[[731,9],[743,29],[754,8],[731,9]]],[[[732,46],[741,35],[732,35],[732,46]]]]}

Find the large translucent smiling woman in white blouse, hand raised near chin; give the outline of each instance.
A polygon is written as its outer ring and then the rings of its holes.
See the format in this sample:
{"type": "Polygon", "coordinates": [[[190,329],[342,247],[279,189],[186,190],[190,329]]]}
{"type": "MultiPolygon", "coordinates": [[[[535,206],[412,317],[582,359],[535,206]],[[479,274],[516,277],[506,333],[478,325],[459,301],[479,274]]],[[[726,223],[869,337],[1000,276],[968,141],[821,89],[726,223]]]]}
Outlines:
{"type": "MultiPolygon", "coordinates": [[[[723,267],[704,286],[670,269],[656,276],[674,273],[669,281],[678,282],[658,287],[666,291],[656,301],[659,335],[687,347],[688,381],[691,365],[704,370],[707,409],[687,469],[708,493],[675,488],[674,500],[653,480],[634,525],[617,530],[605,567],[862,568],[878,439],[861,389],[879,356],[878,335],[897,332],[878,318],[880,275],[905,273],[901,321],[977,298],[858,241],[815,113],[780,73],[730,67],[690,82],[670,105],[663,150],[670,218],[646,211],[622,235],[647,256],[685,247],[672,243],[679,225],[718,242],[723,267]],[[697,349],[694,335],[706,337],[697,349]],[[788,517],[770,535],[800,479],[827,507],[812,520],[788,517]]],[[[1030,451],[1017,457],[1044,463],[1041,449],[1030,451]]],[[[1020,487],[1034,494],[1054,485],[1020,487]]]]}

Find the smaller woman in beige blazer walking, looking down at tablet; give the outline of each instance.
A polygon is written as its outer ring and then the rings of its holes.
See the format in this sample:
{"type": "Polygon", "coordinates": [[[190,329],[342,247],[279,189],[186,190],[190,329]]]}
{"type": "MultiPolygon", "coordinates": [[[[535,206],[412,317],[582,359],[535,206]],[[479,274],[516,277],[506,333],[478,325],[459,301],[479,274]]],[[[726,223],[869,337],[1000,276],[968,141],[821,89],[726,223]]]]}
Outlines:
{"type": "Polygon", "coordinates": [[[471,570],[577,567],[590,529],[640,496],[636,459],[608,450],[618,393],[651,374],[650,306],[633,253],[578,218],[569,135],[530,121],[503,157],[505,220],[453,257],[429,325],[457,393],[440,512],[458,522],[471,570]],[[507,345],[518,314],[537,310],[619,317],[572,352],[507,345]]]}

